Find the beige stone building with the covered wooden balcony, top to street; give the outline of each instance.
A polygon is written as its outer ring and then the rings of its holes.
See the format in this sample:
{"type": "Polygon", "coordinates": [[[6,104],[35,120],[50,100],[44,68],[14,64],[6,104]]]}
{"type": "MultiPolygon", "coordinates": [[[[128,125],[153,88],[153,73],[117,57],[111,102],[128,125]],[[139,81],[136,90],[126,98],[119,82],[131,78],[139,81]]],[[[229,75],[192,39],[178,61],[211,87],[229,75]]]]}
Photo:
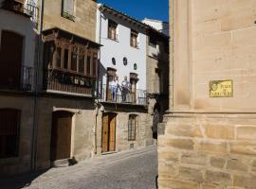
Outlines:
{"type": "Polygon", "coordinates": [[[42,5],[35,168],[93,157],[98,77],[96,9],[92,0],[45,0],[42,5]]]}

